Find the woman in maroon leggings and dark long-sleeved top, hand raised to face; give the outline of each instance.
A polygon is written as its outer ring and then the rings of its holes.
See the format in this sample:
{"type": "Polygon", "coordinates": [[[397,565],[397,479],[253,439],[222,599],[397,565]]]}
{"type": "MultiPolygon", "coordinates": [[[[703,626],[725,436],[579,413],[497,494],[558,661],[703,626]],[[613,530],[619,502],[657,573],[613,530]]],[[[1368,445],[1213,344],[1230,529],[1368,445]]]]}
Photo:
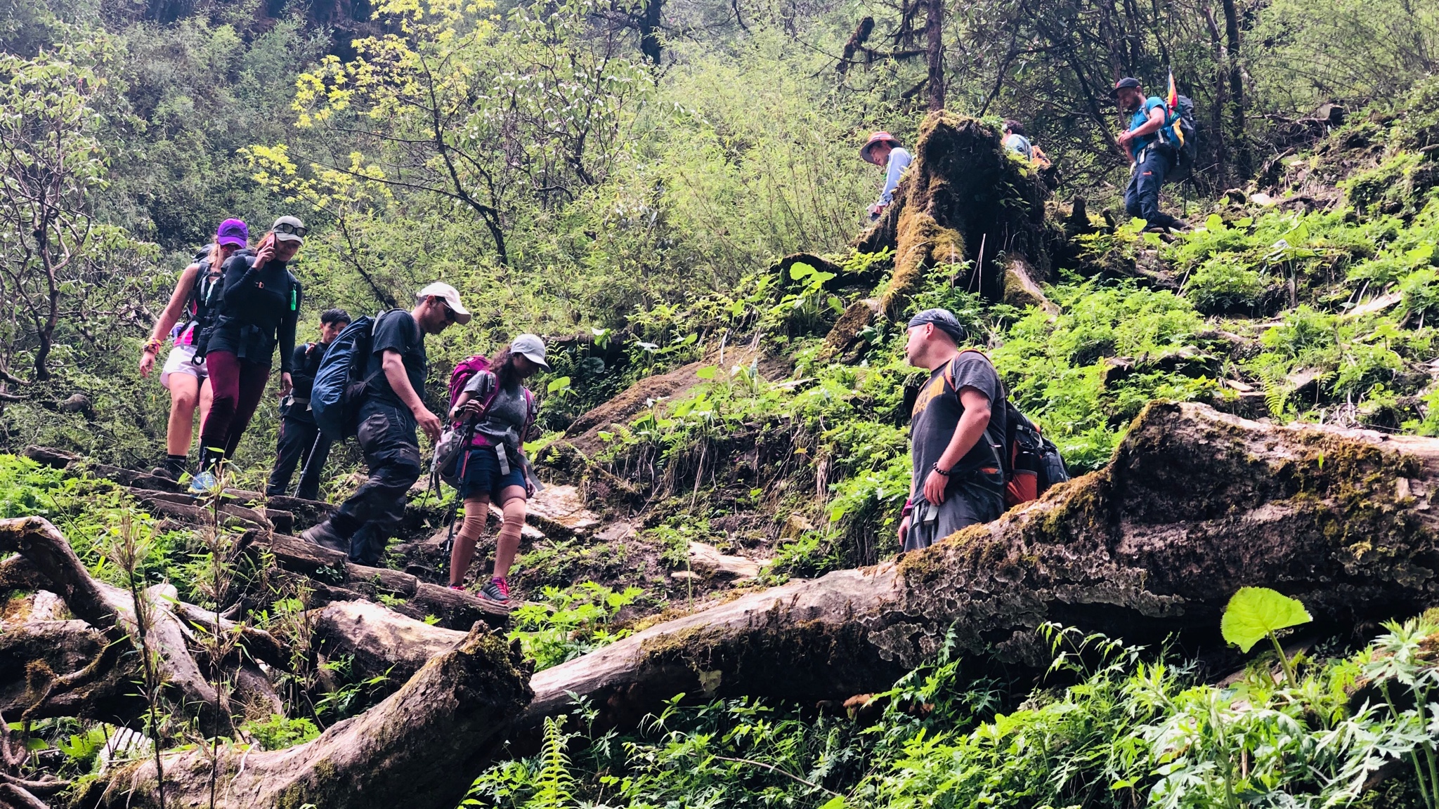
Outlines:
{"type": "Polygon", "coordinates": [[[210,374],[213,400],[200,429],[200,471],[190,481],[191,494],[217,485],[216,468],[240,443],[265,394],[276,347],[281,396],[289,393],[301,288],[288,265],[304,242],[305,225],[281,216],[255,255],[240,253],[224,262],[216,318],[196,348],[196,358],[204,358],[210,374]]]}

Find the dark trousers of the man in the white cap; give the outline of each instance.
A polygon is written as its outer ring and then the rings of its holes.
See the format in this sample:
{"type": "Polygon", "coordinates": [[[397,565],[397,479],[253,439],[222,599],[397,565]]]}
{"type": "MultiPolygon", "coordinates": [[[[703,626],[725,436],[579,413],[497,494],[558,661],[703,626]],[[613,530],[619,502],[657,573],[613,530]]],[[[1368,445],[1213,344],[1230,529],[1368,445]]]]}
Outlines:
{"type": "Polygon", "coordinates": [[[404,494],[420,479],[420,442],[409,409],[386,402],[360,406],[355,432],[370,479],[340,505],[330,527],[350,540],[350,560],[376,564],[404,518],[404,494]]]}

